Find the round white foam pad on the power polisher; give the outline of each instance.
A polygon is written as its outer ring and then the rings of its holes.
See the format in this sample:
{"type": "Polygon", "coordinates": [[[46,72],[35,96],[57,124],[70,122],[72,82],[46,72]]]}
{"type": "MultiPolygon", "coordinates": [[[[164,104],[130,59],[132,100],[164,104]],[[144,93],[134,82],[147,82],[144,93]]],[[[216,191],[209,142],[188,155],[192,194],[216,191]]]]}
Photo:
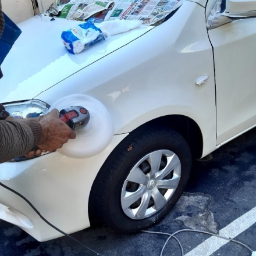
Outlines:
{"type": "Polygon", "coordinates": [[[67,157],[86,158],[98,154],[109,144],[113,137],[113,123],[108,109],[88,95],[72,94],[55,102],[49,111],[56,108],[61,111],[71,106],[83,106],[90,113],[86,126],[75,130],[76,138],[69,140],[57,151],[67,157]]]}

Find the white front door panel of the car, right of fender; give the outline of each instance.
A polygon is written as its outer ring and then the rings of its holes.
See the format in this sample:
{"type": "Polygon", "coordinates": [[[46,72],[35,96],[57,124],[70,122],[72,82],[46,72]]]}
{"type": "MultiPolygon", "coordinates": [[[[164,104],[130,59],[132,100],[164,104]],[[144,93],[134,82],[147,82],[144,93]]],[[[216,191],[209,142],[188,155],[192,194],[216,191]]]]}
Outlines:
{"type": "Polygon", "coordinates": [[[256,123],[256,18],[230,20],[208,34],[214,48],[216,136],[221,144],[256,123]]]}

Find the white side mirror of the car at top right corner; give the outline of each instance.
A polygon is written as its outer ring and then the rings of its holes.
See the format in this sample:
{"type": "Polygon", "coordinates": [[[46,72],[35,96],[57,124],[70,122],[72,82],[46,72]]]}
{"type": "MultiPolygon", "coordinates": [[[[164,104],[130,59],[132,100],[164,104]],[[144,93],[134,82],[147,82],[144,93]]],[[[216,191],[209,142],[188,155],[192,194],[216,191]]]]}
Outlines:
{"type": "Polygon", "coordinates": [[[250,12],[252,10],[256,10],[256,0],[226,0],[226,12],[250,12]]]}

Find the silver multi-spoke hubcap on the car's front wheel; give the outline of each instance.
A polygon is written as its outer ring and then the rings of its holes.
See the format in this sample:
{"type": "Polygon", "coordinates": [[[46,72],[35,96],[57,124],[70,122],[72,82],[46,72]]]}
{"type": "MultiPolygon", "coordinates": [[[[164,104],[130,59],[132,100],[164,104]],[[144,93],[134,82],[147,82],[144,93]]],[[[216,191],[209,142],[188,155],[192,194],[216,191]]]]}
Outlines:
{"type": "Polygon", "coordinates": [[[180,181],[180,159],[170,150],[158,150],[141,158],[122,187],[121,205],[131,219],[145,219],[161,210],[180,181]]]}

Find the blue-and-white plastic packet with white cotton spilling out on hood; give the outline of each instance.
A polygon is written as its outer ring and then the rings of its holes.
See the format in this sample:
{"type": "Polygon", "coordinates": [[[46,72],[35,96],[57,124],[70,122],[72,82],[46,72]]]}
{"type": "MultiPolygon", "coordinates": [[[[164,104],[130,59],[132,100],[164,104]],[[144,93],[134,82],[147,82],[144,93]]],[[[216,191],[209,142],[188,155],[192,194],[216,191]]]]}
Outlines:
{"type": "Polygon", "coordinates": [[[93,23],[90,20],[61,34],[63,44],[70,54],[79,54],[111,35],[127,32],[141,26],[140,20],[109,20],[93,23]]]}

